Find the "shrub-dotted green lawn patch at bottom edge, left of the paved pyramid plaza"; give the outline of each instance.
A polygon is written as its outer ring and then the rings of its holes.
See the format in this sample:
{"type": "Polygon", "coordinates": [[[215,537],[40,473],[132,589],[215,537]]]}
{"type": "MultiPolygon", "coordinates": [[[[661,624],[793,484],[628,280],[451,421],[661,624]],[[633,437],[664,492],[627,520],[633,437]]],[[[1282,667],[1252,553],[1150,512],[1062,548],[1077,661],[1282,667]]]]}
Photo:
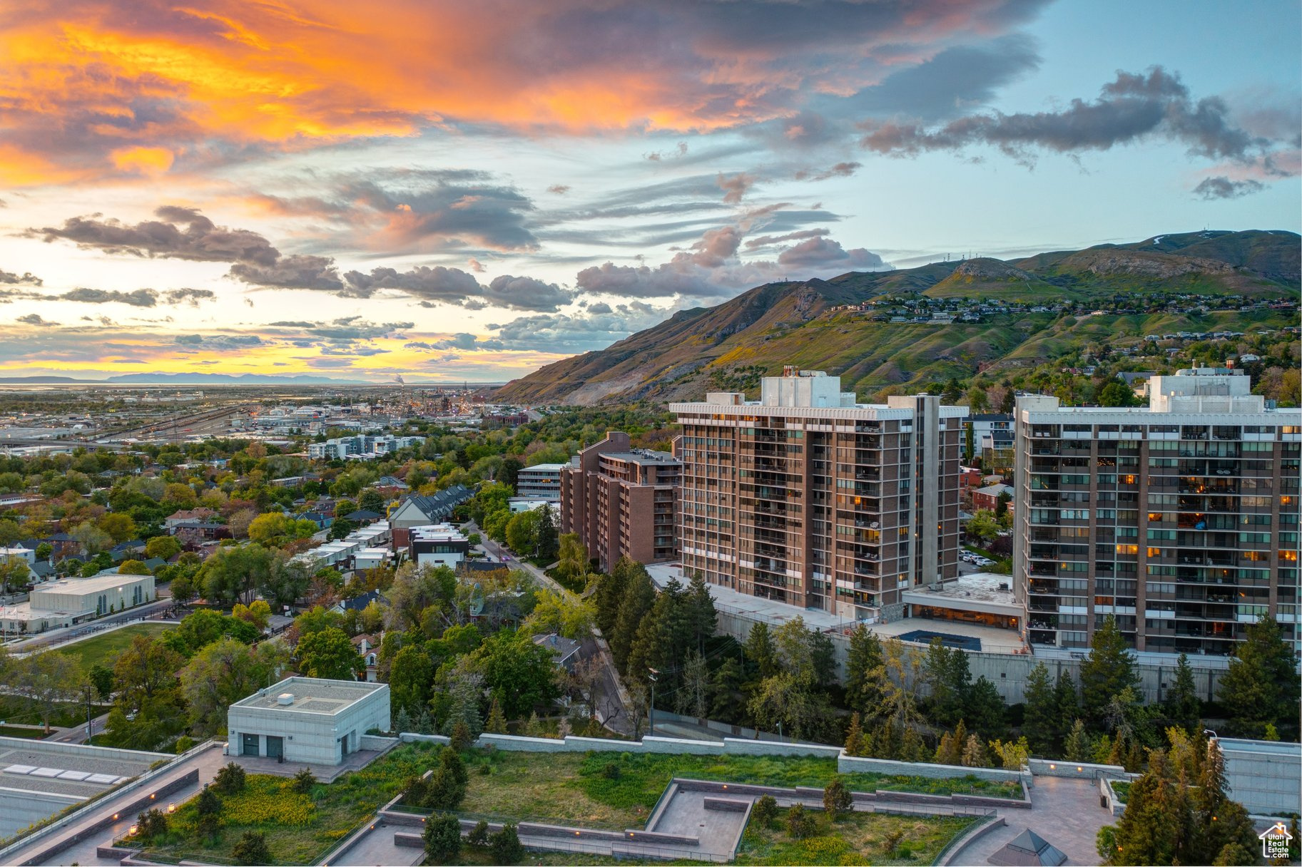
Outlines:
{"type": "Polygon", "coordinates": [[[771,828],[751,820],[742,836],[738,864],[930,864],[975,816],[897,816],[852,812],[831,821],[810,811],[816,831],[796,840],[786,833],[786,810],[771,828]]]}

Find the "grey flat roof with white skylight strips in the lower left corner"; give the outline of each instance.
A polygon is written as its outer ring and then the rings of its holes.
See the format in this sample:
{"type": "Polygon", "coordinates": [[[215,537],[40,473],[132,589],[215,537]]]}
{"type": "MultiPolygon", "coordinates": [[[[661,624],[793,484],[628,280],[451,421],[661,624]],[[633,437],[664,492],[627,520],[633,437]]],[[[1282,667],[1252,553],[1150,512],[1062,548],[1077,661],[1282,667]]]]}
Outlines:
{"type": "Polygon", "coordinates": [[[0,788],[91,798],[141,776],[159,759],[176,758],[161,752],[122,754],[74,743],[0,738],[0,788]]]}

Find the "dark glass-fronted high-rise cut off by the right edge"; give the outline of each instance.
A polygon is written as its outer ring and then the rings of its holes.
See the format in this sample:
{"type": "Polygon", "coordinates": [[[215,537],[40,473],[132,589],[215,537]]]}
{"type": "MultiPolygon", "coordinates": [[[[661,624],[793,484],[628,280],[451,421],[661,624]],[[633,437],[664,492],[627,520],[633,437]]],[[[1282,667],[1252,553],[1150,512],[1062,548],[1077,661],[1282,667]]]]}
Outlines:
{"type": "Polygon", "coordinates": [[[1115,616],[1138,651],[1224,656],[1273,614],[1297,640],[1302,410],[1240,371],[1154,376],[1143,409],[1019,397],[1014,592],[1035,646],[1115,616]]]}

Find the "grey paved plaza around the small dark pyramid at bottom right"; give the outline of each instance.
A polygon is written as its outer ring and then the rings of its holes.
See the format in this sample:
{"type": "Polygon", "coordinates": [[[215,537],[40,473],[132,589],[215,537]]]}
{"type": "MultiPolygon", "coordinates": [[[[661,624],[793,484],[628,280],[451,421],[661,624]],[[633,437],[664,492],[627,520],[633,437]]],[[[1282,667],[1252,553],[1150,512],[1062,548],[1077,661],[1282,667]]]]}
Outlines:
{"type": "Polygon", "coordinates": [[[1095,834],[1112,824],[1112,811],[1099,806],[1099,785],[1094,780],[1035,777],[1030,810],[1000,810],[1008,827],[992,831],[967,844],[949,858],[952,864],[984,864],[1027,828],[1057,846],[1069,864],[1096,864],[1095,834]]]}

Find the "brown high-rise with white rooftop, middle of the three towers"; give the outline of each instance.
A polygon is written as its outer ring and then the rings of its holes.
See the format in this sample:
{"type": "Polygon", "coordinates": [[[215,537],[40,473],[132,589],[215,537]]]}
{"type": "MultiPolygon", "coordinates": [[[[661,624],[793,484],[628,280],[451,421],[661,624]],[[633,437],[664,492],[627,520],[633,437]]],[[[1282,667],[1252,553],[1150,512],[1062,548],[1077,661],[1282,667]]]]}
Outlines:
{"type": "Polygon", "coordinates": [[[720,392],[669,409],[685,574],[870,621],[902,616],[904,590],[957,577],[966,407],[857,404],[838,376],[788,367],[756,402],[720,392]]]}

